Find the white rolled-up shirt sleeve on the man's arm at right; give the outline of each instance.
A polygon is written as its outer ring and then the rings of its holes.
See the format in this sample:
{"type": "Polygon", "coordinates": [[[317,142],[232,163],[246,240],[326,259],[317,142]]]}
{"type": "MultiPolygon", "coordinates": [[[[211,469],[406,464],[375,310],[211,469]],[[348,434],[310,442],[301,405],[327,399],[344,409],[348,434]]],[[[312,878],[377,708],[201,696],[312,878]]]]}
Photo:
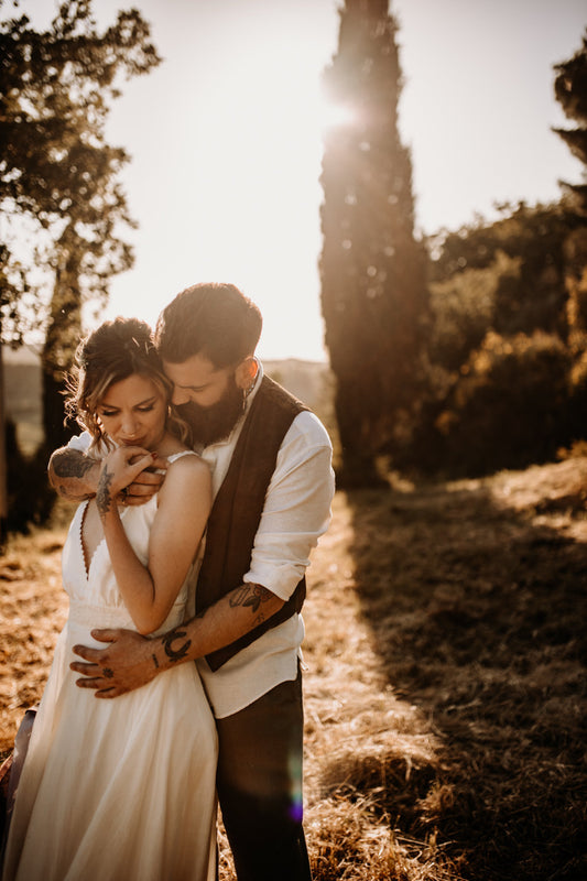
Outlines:
{"type": "Polygon", "coordinates": [[[262,585],[283,600],[293,594],[330,521],[331,456],[322,423],[313,413],[300,413],[278,453],[244,581],[262,585]]]}

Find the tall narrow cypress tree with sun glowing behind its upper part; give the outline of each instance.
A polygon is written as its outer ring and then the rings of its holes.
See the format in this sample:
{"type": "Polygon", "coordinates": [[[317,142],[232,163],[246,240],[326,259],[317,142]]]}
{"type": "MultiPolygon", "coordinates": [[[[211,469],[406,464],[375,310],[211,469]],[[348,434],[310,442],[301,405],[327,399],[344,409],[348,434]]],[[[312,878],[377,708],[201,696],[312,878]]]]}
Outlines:
{"type": "Polygon", "coordinates": [[[405,439],[427,315],[411,159],[398,132],[395,34],[388,0],[346,0],[324,75],[329,99],[348,111],[325,138],[320,257],[347,483],[376,479],[376,457],[405,439]]]}

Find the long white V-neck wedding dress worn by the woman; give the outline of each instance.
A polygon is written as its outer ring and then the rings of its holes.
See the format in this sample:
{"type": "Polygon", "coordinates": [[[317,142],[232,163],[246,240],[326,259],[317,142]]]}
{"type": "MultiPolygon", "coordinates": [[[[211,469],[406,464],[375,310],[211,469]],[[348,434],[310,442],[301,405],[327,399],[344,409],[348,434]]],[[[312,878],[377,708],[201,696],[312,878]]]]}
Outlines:
{"type": "MultiPolygon", "coordinates": [[[[216,727],[195,664],[178,664],[112,699],[76,686],[78,674],[69,670],[76,643],[104,648],[90,629],[134,629],[105,541],[86,572],[86,505],[63,551],[69,617],[34,722],[2,879],[213,881],[216,727]]],[[[121,512],[143,563],[155,511],[151,499],[121,512]]],[[[194,569],[161,632],[185,620],[194,569]]]]}

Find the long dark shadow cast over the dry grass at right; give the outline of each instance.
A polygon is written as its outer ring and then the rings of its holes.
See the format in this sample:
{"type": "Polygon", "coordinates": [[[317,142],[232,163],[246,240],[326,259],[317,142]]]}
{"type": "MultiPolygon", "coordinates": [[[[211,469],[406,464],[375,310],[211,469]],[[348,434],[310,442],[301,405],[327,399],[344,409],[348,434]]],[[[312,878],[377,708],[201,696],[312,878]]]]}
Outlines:
{"type": "Polygon", "coordinates": [[[537,522],[490,481],[347,498],[385,674],[444,744],[406,774],[391,740],[351,788],[374,793],[401,834],[437,834],[470,881],[587,878],[587,545],[548,502],[537,522]]]}

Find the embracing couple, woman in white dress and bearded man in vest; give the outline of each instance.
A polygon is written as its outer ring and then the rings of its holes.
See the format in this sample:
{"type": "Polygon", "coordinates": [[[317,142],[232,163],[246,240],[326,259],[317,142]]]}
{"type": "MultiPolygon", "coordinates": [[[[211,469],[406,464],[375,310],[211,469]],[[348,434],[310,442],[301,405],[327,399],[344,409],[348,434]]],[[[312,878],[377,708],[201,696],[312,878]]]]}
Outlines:
{"type": "Polygon", "coordinates": [[[118,318],[79,346],[84,431],[50,463],[80,502],[69,616],[3,881],[214,881],[217,800],[239,881],[311,878],[300,612],[331,446],[263,376],[260,333],[237,287],[198,284],[154,337],[118,318]]]}

